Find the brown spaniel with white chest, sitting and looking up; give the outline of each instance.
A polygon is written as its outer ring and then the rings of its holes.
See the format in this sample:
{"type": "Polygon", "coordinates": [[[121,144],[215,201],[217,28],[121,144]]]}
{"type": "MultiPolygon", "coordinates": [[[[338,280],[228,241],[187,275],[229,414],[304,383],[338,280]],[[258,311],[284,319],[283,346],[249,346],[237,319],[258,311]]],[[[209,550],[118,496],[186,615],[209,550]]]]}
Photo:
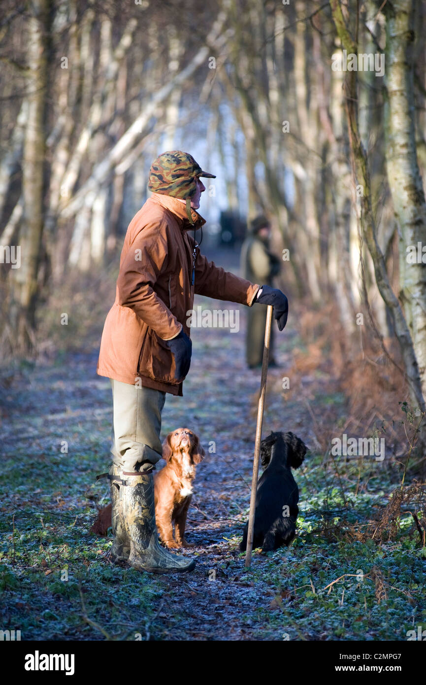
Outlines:
{"type": "Polygon", "coordinates": [[[194,547],[185,539],[186,515],[192,499],[196,466],[204,455],[198,436],[189,428],[177,428],[164,440],[166,466],[154,474],[154,492],[155,521],[166,547],[194,547]]]}

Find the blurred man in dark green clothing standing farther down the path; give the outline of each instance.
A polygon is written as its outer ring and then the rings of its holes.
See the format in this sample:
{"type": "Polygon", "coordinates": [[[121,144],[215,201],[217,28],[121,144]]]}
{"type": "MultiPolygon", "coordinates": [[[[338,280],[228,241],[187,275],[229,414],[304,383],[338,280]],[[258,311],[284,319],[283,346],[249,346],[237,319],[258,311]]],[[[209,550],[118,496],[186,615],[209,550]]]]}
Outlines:
{"type": "MultiPolygon", "coordinates": [[[[269,251],[271,226],[266,216],[256,216],[251,222],[251,233],[241,246],[241,274],[251,282],[272,286],[273,277],[279,273],[279,259],[269,251]]],[[[262,366],[266,325],[266,308],[254,307],[247,316],[246,360],[249,369],[262,366]]],[[[269,366],[275,366],[273,358],[274,336],[271,331],[269,366]]]]}

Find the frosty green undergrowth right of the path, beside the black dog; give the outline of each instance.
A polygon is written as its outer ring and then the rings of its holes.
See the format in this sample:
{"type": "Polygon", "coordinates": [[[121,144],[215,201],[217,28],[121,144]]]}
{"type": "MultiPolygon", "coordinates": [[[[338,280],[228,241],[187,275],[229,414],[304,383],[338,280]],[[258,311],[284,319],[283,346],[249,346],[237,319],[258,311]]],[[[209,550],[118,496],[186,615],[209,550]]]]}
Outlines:
{"type": "MultiPolygon", "coordinates": [[[[394,519],[392,539],[389,528],[378,526],[394,496],[386,495],[388,474],[368,480],[364,473],[368,487],[355,494],[338,484],[318,487],[321,460],[312,462],[298,477],[303,502],[298,537],[288,550],[253,564],[249,574],[271,597],[256,610],[257,638],[407,640],[413,627],[424,630],[426,548],[412,514],[401,512],[394,519]],[[318,489],[312,493],[315,481],[318,489]]],[[[353,466],[341,467],[343,481],[351,471],[354,475],[353,466]]],[[[417,513],[422,515],[419,507],[417,513]]]]}

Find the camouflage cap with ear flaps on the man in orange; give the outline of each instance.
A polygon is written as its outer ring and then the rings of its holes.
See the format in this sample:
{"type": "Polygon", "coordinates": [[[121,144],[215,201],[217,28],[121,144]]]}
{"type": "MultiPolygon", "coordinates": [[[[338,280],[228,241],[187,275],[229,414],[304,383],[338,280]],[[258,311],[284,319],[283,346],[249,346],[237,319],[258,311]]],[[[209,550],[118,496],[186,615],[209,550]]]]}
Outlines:
{"type": "Polygon", "coordinates": [[[192,155],[181,150],[163,152],[151,164],[148,188],[152,192],[188,199],[197,189],[195,179],[199,176],[216,178],[212,173],[203,171],[192,155]]]}

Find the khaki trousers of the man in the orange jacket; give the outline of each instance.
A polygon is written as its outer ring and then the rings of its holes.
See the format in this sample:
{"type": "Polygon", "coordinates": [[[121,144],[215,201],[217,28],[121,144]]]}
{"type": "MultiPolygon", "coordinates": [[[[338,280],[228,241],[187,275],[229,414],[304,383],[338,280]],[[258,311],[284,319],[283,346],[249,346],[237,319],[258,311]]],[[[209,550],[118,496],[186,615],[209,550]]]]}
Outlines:
{"type": "Polygon", "coordinates": [[[114,421],[111,452],[114,464],[134,471],[138,462],[155,464],[161,459],[161,412],[166,393],[121,383],[110,378],[114,421]]]}

